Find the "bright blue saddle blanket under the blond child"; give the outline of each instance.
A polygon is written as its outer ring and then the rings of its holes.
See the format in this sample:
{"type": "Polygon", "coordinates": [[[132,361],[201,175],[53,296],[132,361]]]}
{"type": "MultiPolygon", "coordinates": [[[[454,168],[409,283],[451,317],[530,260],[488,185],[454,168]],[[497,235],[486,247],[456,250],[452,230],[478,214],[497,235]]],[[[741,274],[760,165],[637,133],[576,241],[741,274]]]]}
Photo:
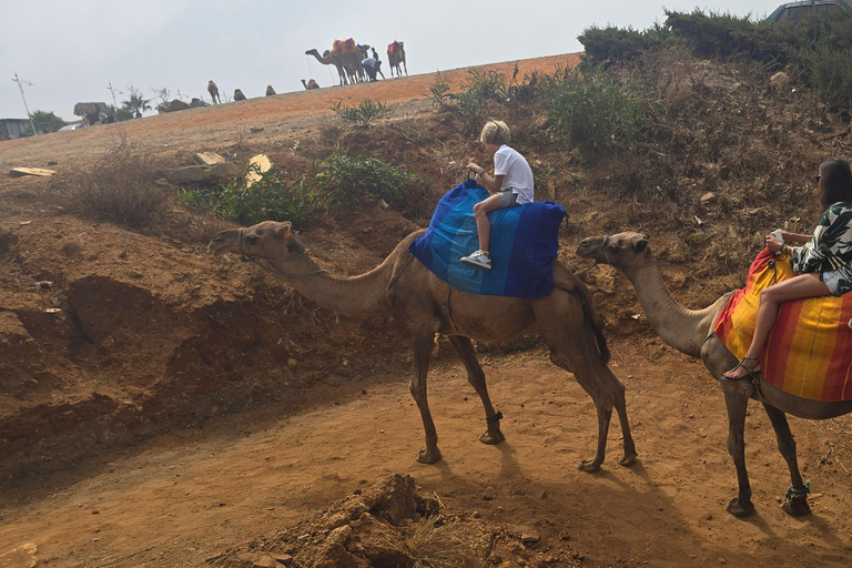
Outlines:
{"type": "Polygon", "coordinates": [[[537,201],[488,213],[491,270],[459,261],[479,248],[474,205],[488,195],[474,180],[450,190],[438,202],[429,229],[408,251],[440,280],[465,292],[528,298],[550,294],[559,225],[566,216],[559,204],[537,201]]]}

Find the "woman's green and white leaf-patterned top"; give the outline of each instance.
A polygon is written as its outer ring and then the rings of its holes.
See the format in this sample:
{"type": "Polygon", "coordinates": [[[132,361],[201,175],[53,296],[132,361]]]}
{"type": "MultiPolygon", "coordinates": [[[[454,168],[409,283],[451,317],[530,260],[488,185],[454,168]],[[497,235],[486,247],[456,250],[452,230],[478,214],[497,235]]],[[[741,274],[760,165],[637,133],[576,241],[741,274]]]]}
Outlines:
{"type": "Polygon", "coordinates": [[[835,295],[852,291],[852,205],[838,202],[826,209],[810,242],[793,247],[790,262],[797,274],[836,271],[835,295]]]}

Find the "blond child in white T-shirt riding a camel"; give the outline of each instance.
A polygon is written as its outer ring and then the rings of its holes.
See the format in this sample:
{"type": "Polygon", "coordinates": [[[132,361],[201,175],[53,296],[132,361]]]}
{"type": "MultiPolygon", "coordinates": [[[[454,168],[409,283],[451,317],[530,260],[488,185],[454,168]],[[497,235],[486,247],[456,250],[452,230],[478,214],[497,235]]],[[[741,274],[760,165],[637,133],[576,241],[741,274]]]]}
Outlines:
{"type": "Polygon", "coordinates": [[[462,262],[468,266],[490,271],[491,257],[488,248],[491,240],[491,223],[488,221],[488,213],[503,207],[517,207],[525,203],[532,203],[535,182],[527,160],[517,150],[509,148],[511,133],[505,122],[489,120],[483,126],[479,141],[494,156],[494,175],[488,175],[485,168],[474,162],[467,164],[467,169],[476,174],[479,183],[491,195],[474,205],[479,250],[463,256],[462,262]]]}

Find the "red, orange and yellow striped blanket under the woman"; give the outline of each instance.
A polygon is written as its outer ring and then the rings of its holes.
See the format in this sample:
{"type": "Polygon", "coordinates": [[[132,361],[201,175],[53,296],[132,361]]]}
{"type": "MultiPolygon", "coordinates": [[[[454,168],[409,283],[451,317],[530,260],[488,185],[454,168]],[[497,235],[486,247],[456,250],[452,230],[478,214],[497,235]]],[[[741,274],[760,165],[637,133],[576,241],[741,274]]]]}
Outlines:
{"type": "MultiPolygon", "coordinates": [[[[751,343],[767,286],[793,276],[787,256],[773,261],[764,248],[749,268],[746,287],[731,295],[713,325],[722,343],[741,358],[751,343]]],[[[815,400],[852,399],[852,294],[781,304],[760,352],[762,375],[782,390],[815,400]]]]}

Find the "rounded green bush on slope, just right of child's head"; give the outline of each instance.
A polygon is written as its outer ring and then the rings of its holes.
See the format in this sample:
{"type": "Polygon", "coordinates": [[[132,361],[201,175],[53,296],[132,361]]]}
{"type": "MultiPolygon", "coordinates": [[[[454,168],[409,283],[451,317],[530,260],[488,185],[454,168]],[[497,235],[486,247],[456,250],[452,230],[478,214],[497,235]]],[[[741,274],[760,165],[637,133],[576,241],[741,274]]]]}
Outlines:
{"type": "Polygon", "coordinates": [[[587,149],[630,143],[661,112],[661,103],[631,80],[601,72],[557,69],[542,79],[547,103],[546,132],[587,149]]]}

